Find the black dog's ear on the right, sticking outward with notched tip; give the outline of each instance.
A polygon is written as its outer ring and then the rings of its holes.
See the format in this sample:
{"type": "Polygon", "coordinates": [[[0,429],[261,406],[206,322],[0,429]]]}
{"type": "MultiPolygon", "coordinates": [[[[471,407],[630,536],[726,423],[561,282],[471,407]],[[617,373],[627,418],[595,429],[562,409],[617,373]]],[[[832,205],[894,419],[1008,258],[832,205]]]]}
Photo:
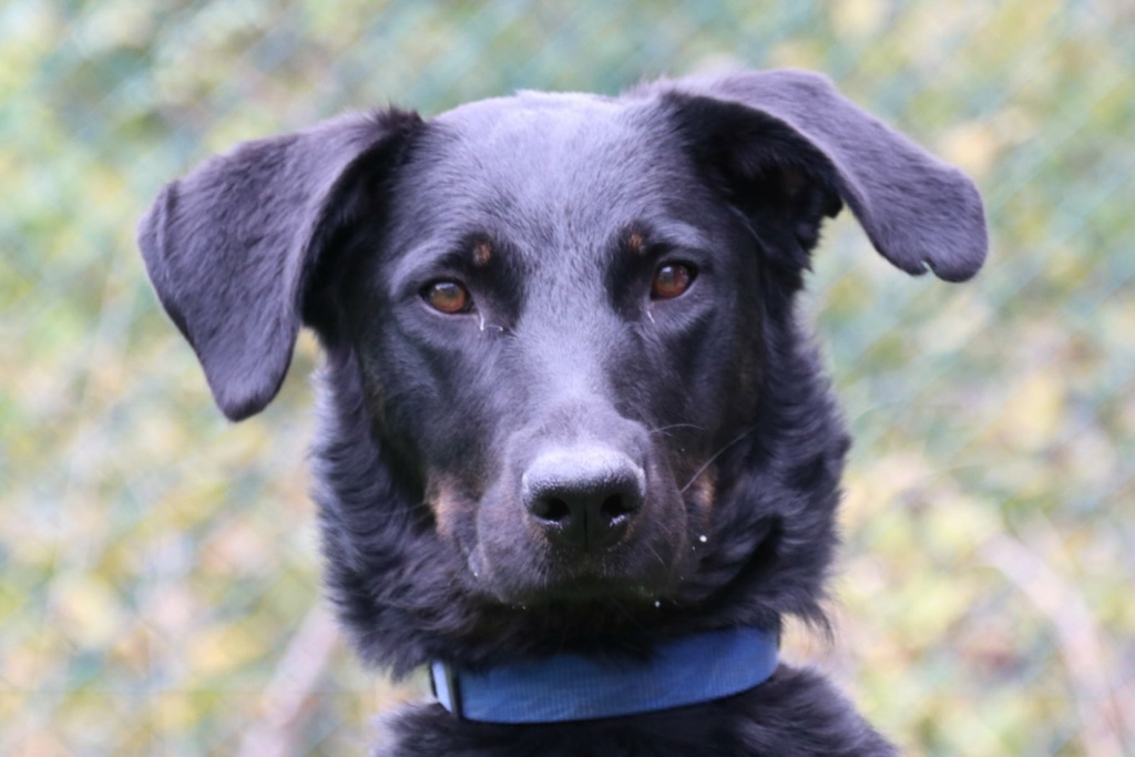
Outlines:
{"type": "MultiPolygon", "coordinates": [[[[913,275],[964,281],[985,260],[981,195],[961,171],[800,70],[672,82],[696,152],[796,217],[806,252],[821,215],[847,203],[875,249],[913,275]],[[770,179],[774,187],[770,190],[770,179]]],[[[734,190],[735,191],[735,190],[734,190]]]]}

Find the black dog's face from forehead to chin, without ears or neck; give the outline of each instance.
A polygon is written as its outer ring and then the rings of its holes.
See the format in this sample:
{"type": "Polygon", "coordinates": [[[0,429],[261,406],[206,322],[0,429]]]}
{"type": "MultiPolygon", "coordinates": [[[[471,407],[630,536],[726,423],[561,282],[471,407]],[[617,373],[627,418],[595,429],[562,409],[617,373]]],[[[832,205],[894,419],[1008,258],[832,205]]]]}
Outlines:
{"type": "Polygon", "coordinates": [[[347,317],[378,434],[470,586],[653,602],[754,422],[754,239],[657,108],[579,95],[431,124],[362,234],[347,317]]]}

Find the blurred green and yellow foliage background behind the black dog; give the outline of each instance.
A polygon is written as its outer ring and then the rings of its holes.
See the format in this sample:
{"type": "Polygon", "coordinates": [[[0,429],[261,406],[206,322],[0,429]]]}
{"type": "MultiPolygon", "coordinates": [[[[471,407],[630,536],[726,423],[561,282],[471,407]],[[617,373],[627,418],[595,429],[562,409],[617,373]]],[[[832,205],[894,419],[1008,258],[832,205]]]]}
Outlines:
{"type": "Polygon", "coordinates": [[[849,219],[809,308],[856,435],[834,642],[911,754],[1135,754],[1135,5],[0,3],[0,754],[364,754],[395,689],[320,604],[304,337],[226,423],[134,226],[233,142],[395,102],[830,74],[981,185],[910,279],[849,219]]]}

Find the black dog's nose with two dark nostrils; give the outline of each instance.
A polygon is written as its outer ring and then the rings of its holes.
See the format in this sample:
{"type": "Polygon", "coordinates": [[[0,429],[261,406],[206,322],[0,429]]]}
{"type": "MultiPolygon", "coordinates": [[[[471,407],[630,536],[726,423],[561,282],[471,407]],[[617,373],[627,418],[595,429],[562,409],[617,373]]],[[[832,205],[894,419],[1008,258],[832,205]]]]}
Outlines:
{"type": "Polygon", "coordinates": [[[557,449],[536,459],[521,479],[533,521],[564,546],[596,550],[617,544],[642,508],[646,473],[603,447],[557,449]]]}

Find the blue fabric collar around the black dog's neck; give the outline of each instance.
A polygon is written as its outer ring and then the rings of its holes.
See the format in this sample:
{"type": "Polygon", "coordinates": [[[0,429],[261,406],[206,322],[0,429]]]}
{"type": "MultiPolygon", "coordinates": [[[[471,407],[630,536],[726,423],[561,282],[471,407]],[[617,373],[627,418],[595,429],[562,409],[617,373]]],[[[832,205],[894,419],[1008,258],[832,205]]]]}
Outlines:
{"type": "Polygon", "coordinates": [[[486,723],[562,723],[649,713],[740,693],[776,670],[779,634],[706,631],[657,646],[645,659],[577,654],[465,671],[430,665],[434,693],[457,717],[486,723]]]}

